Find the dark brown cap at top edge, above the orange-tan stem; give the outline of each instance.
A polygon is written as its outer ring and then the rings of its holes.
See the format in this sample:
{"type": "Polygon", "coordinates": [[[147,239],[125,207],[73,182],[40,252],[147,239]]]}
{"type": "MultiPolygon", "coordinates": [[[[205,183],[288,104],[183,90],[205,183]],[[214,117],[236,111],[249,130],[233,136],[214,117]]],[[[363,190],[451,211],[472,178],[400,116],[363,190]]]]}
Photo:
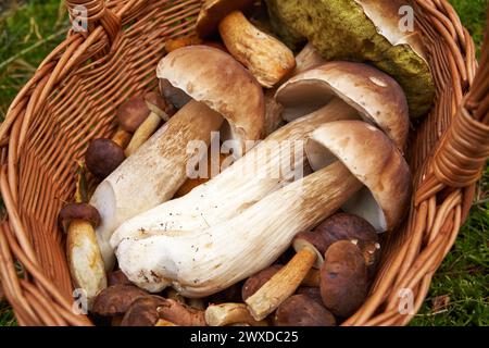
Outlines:
{"type": "Polygon", "coordinates": [[[211,36],[227,14],[249,8],[253,2],[254,0],[206,0],[197,18],[197,34],[201,38],[211,36]]]}

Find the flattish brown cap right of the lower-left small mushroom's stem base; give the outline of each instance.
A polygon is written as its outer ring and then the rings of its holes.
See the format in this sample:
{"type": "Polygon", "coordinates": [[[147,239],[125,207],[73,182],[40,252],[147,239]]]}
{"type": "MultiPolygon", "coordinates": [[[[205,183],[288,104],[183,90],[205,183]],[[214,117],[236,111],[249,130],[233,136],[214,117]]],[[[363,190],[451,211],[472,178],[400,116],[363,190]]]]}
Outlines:
{"type": "Polygon", "coordinates": [[[91,311],[101,316],[122,315],[134,301],[147,296],[148,293],[134,285],[113,285],[96,297],[91,311]]]}

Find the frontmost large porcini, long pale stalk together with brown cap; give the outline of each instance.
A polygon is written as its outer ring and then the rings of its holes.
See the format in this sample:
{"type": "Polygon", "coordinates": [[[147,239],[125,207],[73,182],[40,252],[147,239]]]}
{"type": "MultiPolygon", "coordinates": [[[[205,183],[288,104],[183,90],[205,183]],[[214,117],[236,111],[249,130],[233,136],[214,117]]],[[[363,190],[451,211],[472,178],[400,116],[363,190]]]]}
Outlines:
{"type": "MultiPolygon", "coordinates": [[[[322,136],[331,129],[327,126],[341,127],[343,136],[335,138],[335,144],[352,144],[347,151],[335,153],[338,159],[346,161],[359,178],[367,177],[369,187],[378,189],[383,181],[383,197],[405,201],[399,190],[408,185],[408,164],[380,130],[363,122],[340,121],[321,127],[322,136]],[[399,185],[391,186],[392,181],[399,185]]],[[[273,191],[215,226],[153,229],[122,238],[116,251],[121,269],[150,291],[172,286],[186,297],[215,294],[273,263],[296,234],[339,209],[362,188],[355,175],[344,164],[335,162],[273,191]]],[[[390,210],[399,213],[394,208],[383,208],[388,210],[386,215],[393,215],[390,210]]]]}

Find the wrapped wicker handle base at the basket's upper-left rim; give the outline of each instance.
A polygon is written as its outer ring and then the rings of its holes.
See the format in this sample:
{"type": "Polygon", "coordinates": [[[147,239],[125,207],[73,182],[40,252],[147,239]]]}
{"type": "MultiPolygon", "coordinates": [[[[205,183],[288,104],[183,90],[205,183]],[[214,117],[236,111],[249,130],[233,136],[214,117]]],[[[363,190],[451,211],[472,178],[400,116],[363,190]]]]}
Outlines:
{"type": "Polygon", "coordinates": [[[64,2],[75,32],[88,35],[101,25],[111,45],[121,34],[121,18],[106,8],[104,0],[64,0],[64,2]]]}

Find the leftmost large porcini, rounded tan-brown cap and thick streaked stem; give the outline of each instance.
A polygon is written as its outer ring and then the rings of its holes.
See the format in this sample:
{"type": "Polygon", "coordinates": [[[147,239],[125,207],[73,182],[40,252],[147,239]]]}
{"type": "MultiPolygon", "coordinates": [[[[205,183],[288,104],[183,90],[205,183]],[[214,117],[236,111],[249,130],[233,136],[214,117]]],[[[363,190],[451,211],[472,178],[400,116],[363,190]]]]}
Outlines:
{"type": "Polygon", "coordinates": [[[258,140],[262,133],[263,90],[229,54],[201,46],[183,48],[160,62],[158,75],[177,88],[185,86],[193,100],[95,191],[91,204],[102,217],[97,237],[108,270],[114,263],[109,244],[113,231],[124,221],[173,198],[187,179],[187,163],[195,157],[187,150],[190,141],[209,147],[211,133],[221,128],[224,119],[239,144],[258,140]]]}

